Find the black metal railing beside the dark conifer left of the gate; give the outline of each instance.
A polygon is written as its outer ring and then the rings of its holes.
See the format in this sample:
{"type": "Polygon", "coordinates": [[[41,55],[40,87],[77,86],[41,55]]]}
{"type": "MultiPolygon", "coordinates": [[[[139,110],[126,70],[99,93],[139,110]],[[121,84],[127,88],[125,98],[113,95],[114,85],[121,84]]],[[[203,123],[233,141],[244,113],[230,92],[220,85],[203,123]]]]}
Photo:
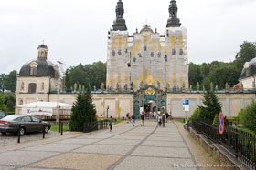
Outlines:
{"type": "Polygon", "coordinates": [[[97,131],[101,129],[107,129],[108,125],[109,125],[109,120],[87,122],[83,124],[83,132],[88,133],[88,132],[97,131]]]}

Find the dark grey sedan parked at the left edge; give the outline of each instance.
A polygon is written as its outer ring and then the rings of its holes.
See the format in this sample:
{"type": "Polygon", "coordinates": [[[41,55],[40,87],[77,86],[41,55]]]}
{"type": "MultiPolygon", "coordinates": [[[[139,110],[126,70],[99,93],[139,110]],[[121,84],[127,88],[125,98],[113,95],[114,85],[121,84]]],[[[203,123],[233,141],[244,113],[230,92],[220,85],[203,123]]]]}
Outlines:
{"type": "Polygon", "coordinates": [[[51,127],[48,122],[42,121],[33,115],[7,115],[0,119],[0,132],[2,134],[17,133],[19,125],[21,125],[20,135],[27,132],[42,132],[43,128],[45,133],[48,133],[51,127]]]}

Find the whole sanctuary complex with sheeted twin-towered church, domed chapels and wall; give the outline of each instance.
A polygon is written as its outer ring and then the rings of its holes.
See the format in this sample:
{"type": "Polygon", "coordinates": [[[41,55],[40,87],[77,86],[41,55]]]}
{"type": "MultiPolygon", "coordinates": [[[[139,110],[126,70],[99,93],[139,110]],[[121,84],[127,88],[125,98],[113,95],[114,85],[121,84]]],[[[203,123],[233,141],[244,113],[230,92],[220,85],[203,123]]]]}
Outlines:
{"type": "MultiPolygon", "coordinates": [[[[92,91],[98,116],[123,117],[131,113],[139,117],[142,111],[159,111],[164,106],[175,118],[188,117],[203,105],[204,89],[197,85],[197,91],[193,91],[189,85],[187,29],[181,27],[177,10],[176,1],[171,0],[163,35],[150,25],[143,25],[131,35],[123,17],[123,2],[118,1],[108,36],[106,85],[102,83],[101,89],[92,91]],[[188,110],[183,109],[184,100],[189,101],[188,110]]],[[[18,105],[37,101],[73,104],[82,90],[75,84],[72,91],[61,87],[59,91],[59,68],[48,60],[48,46],[39,45],[37,50],[37,58],[23,65],[16,76],[17,114],[22,113],[18,105]]],[[[245,66],[240,81],[253,79],[255,87],[255,61],[250,64],[245,66]]],[[[229,88],[216,89],[216,94],[228,117],[237,116],[255,98],[254,93],[231,92],[229,88]]]]}

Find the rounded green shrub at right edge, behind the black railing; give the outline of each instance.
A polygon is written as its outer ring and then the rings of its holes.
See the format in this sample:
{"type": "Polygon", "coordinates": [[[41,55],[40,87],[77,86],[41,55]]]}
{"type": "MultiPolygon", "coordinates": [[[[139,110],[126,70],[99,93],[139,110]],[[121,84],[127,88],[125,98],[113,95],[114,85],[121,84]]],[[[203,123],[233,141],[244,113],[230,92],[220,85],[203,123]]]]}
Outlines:
{"type": "Polygon", "coordinates": [[[241,114],[241,124],[251,131],[256,132],[256,101],[252,100],[241,114]]]}

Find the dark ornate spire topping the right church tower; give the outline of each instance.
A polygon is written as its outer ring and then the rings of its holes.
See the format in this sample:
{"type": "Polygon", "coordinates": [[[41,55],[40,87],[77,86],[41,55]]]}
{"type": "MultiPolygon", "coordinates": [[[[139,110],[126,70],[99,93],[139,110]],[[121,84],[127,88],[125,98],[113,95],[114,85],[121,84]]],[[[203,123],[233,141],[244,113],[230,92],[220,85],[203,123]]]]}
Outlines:
{"type": "Polygon", "coordinates": [[[176,1],[172,0],[169,5],[170,17],[167,22],[167,27],[180,27],[180,20],[177,18],[177,5],[176,1]]]}

